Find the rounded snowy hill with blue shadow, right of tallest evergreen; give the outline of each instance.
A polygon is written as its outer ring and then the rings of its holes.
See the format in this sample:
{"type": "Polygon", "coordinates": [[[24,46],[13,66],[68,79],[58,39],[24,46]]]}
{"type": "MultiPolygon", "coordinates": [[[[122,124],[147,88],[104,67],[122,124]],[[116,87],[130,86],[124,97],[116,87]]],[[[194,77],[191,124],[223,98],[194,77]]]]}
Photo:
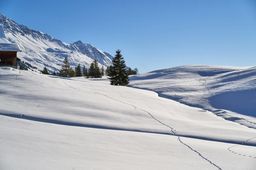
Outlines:
{"type": "Polygon", "coordinates": [[[187,65],[130,80],[130,87],[151,90],[256,129],[256,67],[187,65]]]}

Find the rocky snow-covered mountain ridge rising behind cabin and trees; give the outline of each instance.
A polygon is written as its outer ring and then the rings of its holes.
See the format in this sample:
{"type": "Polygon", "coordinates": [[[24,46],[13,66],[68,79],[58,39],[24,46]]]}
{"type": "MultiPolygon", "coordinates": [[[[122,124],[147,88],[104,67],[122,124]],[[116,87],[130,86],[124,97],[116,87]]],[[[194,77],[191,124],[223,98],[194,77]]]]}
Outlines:
{"type": "Polygon", "coordinates": [[[72,66],[85,64],[86,67],[94,59],[105,67],[111,65],[112,56],[103,52],[91,44],[81,41],[72,44],[62,42],[41,31],[29,29],[26,25],[19,25],[0,13],[0,42],[19,43],[22,52],[17,54],[18,58],[43,69],[54,71],[60,69],[65,56],[68,57],[72,66]]]}

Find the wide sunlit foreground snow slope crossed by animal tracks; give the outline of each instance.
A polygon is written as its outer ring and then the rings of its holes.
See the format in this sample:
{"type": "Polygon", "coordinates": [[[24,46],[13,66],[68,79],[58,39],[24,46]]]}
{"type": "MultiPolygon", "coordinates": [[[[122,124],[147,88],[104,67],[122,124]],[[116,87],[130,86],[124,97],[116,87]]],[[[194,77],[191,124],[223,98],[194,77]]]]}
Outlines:
{"type": "Polygon", "coordinates": [[[111,86],[0,67],[0,169],[254,169],[256,131],[111,86]]]}

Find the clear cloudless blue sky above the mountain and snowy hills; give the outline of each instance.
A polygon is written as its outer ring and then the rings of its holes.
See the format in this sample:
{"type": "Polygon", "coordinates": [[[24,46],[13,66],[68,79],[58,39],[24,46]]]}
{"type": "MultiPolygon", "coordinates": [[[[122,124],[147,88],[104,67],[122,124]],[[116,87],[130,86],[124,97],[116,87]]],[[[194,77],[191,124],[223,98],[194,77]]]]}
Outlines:
{"type": "Polygon", "coordinates": [[[67,43],[120,49],[140,73],[256,65],[255,0],[0,0],[0,12],[67,43]]]}

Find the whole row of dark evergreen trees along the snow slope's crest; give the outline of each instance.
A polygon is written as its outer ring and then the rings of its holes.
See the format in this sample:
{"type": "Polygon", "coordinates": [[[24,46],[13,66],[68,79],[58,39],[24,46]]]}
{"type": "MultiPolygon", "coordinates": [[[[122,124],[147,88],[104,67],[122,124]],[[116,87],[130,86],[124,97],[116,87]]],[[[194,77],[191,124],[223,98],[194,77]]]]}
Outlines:
{"type": "MultiPolygon", "coordinates": [[[[63,64],[61,65],[60,72],[56,73],[53,72],[53,76],[59,76],[59,77],[86,77],[86,78],[102,78],[102,76],[106,75],[109,76],[110,84],[111,85],[117,85],[117,86],[124,86],[129,84],[129,75],[137,75],[138,69],[126,69],[125,60],[121,54],[121,50],[115,51],[115,57],[112,60],[113,66],[108,66],[106,70],[104,70],[104,67],[102,65],[102,68],[99,68],[98,62],[96,59],[91,63],[89,69],[83,65],[83,69],[81,70],[80,64],[78,64],[77,67],[75,67],[75,70],[70,66],[69,60],[67,57],[63,60],[63,64]]],[[[44,67],[43,74],[49,74],[47,71],[47,68],[44,67]]]]}

